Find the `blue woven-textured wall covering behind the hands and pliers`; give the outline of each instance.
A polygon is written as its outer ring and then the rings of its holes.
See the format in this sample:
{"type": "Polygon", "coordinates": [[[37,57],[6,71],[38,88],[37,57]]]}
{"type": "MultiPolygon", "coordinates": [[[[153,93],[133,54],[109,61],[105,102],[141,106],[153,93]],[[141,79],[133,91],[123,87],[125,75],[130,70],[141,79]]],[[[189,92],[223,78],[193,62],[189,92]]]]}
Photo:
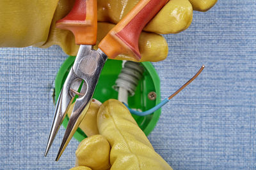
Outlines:
{"type": "MultiPolygon", "coordinates": [[[[256,3],[219,1],[196,12],[188,30],[167,35],[169,55],[154,63],[162,99],[205,64],[200,76],[162,109],[152,145],[173,169],[256,169],[256,3]]],[[[67,55],[58,46],[0,49],[1,169],[68,169],[72,139],[47,157],[53,81],[67,55]]],[[[60,128],[60,134],[65,129],[60,128]]]]}

